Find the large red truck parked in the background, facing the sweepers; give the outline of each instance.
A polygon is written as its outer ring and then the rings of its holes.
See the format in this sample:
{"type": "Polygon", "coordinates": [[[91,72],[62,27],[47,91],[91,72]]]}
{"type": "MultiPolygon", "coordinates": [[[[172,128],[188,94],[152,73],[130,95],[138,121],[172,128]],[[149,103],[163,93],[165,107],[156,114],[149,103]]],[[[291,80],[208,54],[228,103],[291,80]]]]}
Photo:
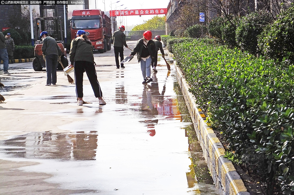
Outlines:
{"type": "Polygon", "coordinates": [[[111,21],[100,9],[74,10],[71,18],[71,39],[78,30],[85,30],[93,50],[100,53],[111,50],[111,21]]]}

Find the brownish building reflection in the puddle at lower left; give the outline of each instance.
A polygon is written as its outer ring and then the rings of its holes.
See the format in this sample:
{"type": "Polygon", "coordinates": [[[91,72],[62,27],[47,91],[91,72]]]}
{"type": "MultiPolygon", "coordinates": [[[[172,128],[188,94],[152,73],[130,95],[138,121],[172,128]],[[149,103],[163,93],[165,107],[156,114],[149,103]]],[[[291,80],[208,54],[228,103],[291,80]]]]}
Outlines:
{"type": "Polygon", "coordinates": [[[33,132],[1,140],[0,151],[7,157],[57,160],[95,160],[97,132],[33,132]]]}

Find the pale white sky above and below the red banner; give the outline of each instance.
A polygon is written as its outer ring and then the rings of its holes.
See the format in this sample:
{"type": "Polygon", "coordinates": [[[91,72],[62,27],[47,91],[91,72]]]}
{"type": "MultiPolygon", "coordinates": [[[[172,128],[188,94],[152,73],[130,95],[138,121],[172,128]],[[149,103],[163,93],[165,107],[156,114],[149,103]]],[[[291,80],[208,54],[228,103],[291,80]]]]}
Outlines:
{"type": "MultiPolygon", "coordinates": [[[[104,11],[104,0],[89,0],[89,9],[95,9],[95,1],[96,8],[104,11]]],[[[117,9],[158,9],[158,8],[167,8],[169,0],[120,0],[120,2],[115,3],[119,0],[105,0],[105,10],[111,10],[110,4],[112,3],[112,10],[117,9]],[[123,6],[121,6],[123,5],[123,6]]],[[[120,21],[122,25],[125,26],[134,26],[137,24],[142,24],[143,21],[151,19],[155,15],[145,15],[145,16],[125,16],[121,17],[120,21]]],[[[165,15],[158,15],[165,16],[165,15]]],[[[126,29],[131,30],[131,29],[126,29]]]]}

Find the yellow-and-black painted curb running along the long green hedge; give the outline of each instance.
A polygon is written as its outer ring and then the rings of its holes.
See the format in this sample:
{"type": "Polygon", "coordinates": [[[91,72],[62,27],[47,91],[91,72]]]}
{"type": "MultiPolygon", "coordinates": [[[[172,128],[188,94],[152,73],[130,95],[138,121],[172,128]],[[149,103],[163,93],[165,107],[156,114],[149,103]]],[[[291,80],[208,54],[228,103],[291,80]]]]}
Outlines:
{"type": "Polygon", "coordinates": [[[202,114],[201,109],[197,108],[196,98],[189,92],[190,86],[186,82],[181,69],[176,65],[176,61],[173,64],[198,140],[201,143],[203,155],[208,162],[208,168],[216,187],[222,188],[225,195],[250,195],[232,162],[223,157],[225,149],[213,130],[207,127],[204,122],[203,118],[206,117],[202,114]]]}

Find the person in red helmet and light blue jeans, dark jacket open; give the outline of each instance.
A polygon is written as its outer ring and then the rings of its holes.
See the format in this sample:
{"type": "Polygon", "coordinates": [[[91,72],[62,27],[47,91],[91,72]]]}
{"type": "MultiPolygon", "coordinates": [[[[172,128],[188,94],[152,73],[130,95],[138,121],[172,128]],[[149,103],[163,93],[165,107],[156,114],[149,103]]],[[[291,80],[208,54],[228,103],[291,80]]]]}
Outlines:
{"type": "Polygon", "coordinates": [[[152,33],[150,30],[147,30],[143,33],[143,38],[138,40],[136,47],[131,52],[131,55],[137,53],[138,62],[141,63],[141,71],[143,75],[143,84],[149,83],[152,81],[151,76],[151,61],[157,55],[155,43],[152,38],[152,33]]]}

